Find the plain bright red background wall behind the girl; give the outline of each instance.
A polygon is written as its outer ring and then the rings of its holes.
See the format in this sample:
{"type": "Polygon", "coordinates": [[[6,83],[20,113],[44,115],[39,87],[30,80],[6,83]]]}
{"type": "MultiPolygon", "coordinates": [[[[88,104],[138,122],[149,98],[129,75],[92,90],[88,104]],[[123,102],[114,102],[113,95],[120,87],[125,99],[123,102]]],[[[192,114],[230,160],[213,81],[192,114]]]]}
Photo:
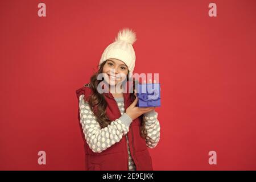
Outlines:
{"type": "Polygon", "coordinates": [[[0,169],[84,169],[75,91],[123,27],[137,33],[134,73],[159,73],[153,168],[256,169],[256,1],[31,0],[0,9],[0,169]]]}

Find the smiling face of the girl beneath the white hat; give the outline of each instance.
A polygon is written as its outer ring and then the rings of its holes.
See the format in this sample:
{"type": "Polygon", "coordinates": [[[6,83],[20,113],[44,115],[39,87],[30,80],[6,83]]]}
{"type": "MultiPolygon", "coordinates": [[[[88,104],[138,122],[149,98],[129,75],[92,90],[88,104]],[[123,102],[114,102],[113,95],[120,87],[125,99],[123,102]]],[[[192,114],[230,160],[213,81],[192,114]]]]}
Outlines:
{"type": "Polygon", "coordinates": [[[106,73],[108,75],[108,78],[106,79],[108,84],[116,85],[118,82],[126,79],[128,75],[128,68],[121,60],[108,59],[102,69],[102,73],[106,73]]]}

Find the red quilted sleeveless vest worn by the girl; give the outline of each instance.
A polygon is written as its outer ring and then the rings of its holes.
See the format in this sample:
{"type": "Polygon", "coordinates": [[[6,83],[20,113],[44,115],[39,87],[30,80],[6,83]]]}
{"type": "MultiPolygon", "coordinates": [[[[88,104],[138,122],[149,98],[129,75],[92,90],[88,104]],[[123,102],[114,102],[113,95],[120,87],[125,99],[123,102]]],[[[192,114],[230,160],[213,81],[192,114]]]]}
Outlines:
{"type": "MultiPolygon", "coordinates": [[[[128,83],[128,81],[127,81],[128,83]]],[[[76,90],[76,96],[79,100],[81,94],[84,94],[84,100],[89,101],[90,94],[92,90],[84,85],[82,88],[76,90]]],[[[133,93],[123,93],[125,110],[133,102],[131,100],[130,94],[133,93]]],[[[107,102],[106,114],[108,115],[111,121],[121,117],[121,113],[118,109],[117,102],[114,100],[114,97],[111,93],[103,93],[105,100],[107,102]]],[[[78,112],[78,119],[80,124],[80,111],[78,112]]],[[[129,140],[129,147],[131,157],[134,160],[137,171],[151,171],[152,161],[151,156],[148,152],[146,146],[146,141],[141,137],[140,124],[142,117],[136,118],[131,122],[129,127],[129,132],[127,133],[129,140]]],[[[81,125],[80,125],[81,126],[81,125]]],[[[81,135],[84,139],[84,148],[85,148],[85,169],[86,170],[102,170],[102,171],[127,171],[128,170],[128,151],[127,151],[127,140],[123,136],[122,139],[113,144],[111,147],[106,150],[97,153],[93,152],[89,145],[86,143],[84,138],[84,133],[81,129],[81,135]]]]}

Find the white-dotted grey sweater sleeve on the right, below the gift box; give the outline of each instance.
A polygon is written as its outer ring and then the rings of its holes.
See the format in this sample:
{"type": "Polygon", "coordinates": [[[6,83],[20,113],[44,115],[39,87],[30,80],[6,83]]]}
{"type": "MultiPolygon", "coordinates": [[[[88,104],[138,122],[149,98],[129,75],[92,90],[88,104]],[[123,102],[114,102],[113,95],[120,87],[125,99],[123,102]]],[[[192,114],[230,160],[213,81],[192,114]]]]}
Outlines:
{"type": "Polygon", "coordinates": [[[146,144],[149,148],[155,148],[160,140],[160,123],[158,113],[155,110],[144,114],[146,118],[146,144]]]}

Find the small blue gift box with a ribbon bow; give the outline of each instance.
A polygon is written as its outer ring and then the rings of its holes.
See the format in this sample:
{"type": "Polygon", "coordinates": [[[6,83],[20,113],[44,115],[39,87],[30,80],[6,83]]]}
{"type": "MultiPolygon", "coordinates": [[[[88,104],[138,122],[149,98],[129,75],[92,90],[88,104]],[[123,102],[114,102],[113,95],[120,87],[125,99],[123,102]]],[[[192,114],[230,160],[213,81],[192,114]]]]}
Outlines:
{"type": "Polygon", "coordinates": [[[155,107],[160,104],[160,84],[137,84],[138,107],[155,107]]]}

